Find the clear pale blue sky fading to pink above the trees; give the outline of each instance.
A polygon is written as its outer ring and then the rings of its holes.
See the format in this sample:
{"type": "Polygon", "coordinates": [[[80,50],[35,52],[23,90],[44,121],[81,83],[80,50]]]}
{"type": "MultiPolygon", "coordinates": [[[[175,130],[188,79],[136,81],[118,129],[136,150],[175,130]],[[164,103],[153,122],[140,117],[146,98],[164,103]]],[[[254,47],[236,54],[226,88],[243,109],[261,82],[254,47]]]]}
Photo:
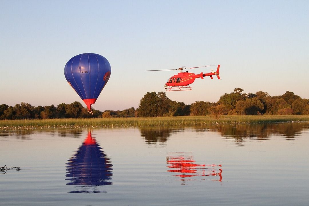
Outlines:
{"type": "Polygon", "coordinates": [[[220,80],[196,79],[192,91],[167,92],[186,104],[217,102],[237,87],[309,99],[307,0],[0,3],[0,104],[85,106],[64,77],[66,62],[80,53],[111,64],[93,105],[101,111],[137,108],[177,73],[144,70],[180,66],[221,65],[220,80]]]}

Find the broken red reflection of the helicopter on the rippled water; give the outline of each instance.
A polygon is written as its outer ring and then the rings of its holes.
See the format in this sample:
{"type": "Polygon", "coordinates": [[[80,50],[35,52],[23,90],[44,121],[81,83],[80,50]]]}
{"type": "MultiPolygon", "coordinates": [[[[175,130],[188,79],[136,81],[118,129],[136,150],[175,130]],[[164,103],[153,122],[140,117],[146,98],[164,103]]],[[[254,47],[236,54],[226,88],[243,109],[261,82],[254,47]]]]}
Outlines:
{"type": "Polygon", "coordinates": [[[196,164],[192,155],[167,156],[168,172],[174,172],[173,176],[180,177],[183,183],[190,180],[208,180],[222,182],[222,165],[196,164]],[[216,178],[215,178],[216,177],[216,178]]]}

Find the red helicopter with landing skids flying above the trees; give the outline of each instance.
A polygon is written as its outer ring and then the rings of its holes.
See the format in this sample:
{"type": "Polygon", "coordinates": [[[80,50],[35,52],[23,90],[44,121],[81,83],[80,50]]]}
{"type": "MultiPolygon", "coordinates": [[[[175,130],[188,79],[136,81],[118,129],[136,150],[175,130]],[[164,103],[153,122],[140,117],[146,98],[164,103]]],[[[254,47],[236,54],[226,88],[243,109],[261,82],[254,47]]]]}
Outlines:
{"type": "MultiPolygon", "coordinates": [[[[214,65],[207,65],[207,66],[214,66],[214,65]]],[[[214,72],[213,70],[210,73],[201,72],[201,74],[194,74],[190,73],[188,71],[182,72],[184,69],[195,69],[200,67],[207,67],[207,66],[197,66],[197,67],[190,67],[185,68],[180,67],[178,69],[159,69],[159,70],[146,70],[146,71],[166,71],[166,70],[180,70],[180,72],[171,78],[167,80],[165,83],[164,89],[167,91],[184,91],[184,90],[192,90],[192,87],[189,86],[189,84],[192,84],[196,78],[204,79],[204,77],[210,76],[211,79],[213,79],[213,75],[216,75],[218,79],[220,79],[219,76],[219,69],[220,65],[218,64],[217,71],[214,72]]]]}

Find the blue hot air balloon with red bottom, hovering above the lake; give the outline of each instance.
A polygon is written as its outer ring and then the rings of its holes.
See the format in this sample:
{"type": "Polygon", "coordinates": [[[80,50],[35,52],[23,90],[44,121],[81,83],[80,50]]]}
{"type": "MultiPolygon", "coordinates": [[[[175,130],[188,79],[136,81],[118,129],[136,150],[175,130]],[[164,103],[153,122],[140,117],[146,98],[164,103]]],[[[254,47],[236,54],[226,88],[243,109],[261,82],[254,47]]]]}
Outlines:
{"type": "Polygon", "coordinates": [[[64,76],[72,88],[91,111],[111,75],[108,60],[94,53],[84,53],[72,57],[64,67],[64,76]]]}

